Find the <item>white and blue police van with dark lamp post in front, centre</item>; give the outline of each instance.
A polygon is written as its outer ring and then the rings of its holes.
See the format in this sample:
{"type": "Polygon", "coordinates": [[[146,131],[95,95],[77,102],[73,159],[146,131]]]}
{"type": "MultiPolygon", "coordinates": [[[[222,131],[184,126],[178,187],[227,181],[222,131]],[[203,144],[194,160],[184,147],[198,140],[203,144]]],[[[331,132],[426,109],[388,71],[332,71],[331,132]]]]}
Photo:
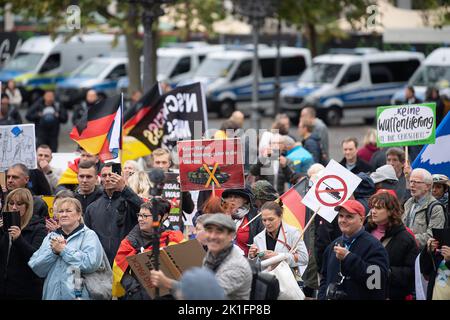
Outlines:
{"type": "MultiPolygon", "coordinates": [[[[205,86],[208,110],[229,117],[239,108],[244,112],[252,97],[253,46],[208,54],[190,82],[202,82],[205,86]]],[[[303,48],[280,48],[282,86],[294,83],[311,64],[311,53],[303,48]]],[[[258,49],[260,107],[269,112],[275,94],[275,66],[277,50],[271,47],[258,49]]]]}

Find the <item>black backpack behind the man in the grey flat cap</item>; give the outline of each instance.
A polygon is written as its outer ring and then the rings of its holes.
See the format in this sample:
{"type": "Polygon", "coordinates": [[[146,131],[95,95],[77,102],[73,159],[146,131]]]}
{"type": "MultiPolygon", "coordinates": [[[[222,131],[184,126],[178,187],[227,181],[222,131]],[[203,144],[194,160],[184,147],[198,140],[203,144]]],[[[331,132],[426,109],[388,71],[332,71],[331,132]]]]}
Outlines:
{"type": "Polygon", "coordinates": [[[280,284],[275,275],[261,272],[258,263],[248,260],[252,269],[252,288],[250,300],[277,300],[280,294],[280,284]]]}

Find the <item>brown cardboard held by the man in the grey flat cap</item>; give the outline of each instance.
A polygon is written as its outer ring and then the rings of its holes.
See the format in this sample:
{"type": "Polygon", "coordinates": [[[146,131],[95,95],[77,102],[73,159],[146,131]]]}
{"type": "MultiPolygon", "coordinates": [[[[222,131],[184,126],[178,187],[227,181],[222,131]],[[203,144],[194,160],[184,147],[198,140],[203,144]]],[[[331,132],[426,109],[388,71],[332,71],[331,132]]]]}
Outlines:
{"type": "MultiPolygon", "coordinates": [[[[192,267],[201,267],[205,254],[205,250],[197,240],[168,246],[160,251],[159,269],[167,277],[178,280],[186,270],[192,267]]],[[[150,280],[150,271],[154,269],[152,251],[127,257],[127,261],[148,295],[154,298],[155,288],[152,286],[150,280]]],[[[161,296],[169,293],[167,289],[160,289],[159,291],[161,296]]]]}

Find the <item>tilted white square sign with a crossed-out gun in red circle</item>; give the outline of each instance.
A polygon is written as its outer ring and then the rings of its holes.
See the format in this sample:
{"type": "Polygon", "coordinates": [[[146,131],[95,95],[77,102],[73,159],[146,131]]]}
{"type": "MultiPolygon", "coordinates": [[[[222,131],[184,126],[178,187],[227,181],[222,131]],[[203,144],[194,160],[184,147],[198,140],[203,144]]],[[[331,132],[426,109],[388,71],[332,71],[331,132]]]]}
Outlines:
{"type": "Polygon", "coordinates": [[[302,202],[331,223],[337,215],[334,208],[347,201],[360,182],[360,177],[330,160],[302,202]]]}

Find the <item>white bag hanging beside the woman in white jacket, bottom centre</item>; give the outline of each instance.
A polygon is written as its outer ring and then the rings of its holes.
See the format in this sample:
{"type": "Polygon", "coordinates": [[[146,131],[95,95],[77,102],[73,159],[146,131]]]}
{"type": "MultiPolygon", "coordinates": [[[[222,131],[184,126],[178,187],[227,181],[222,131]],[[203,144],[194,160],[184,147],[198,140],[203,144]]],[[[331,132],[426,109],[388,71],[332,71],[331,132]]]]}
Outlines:
{"type": "Polygon", "coordinates": [[[275,269],[268,272],[277,277],[280,283],[278,300],[305,300],[305,294],[298,286],[291,267],[286,261],[281,261],[275,269]]]}

